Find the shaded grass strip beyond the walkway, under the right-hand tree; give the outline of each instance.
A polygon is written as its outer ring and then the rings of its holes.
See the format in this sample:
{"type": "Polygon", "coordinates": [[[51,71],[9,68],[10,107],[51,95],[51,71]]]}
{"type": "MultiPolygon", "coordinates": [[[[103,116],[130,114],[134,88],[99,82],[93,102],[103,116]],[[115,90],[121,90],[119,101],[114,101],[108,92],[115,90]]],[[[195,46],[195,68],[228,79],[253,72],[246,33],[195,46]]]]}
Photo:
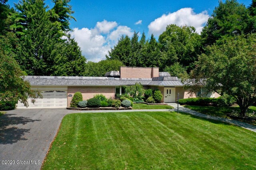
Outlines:
{"type": "MultiPolygon", "coordinates": [[[[215,107],[215,106],[192,106],[192,105],[184,105],[184,107],[192,109],[194,111],[198,111],[200,113],[206,114],[206,115],[213,115],[218,117],[225,117],[229,118],[226,114],[231,113],[232,110],[240,111],[239,107],[215,107]]],[[[249,112],[256,111],[255,106],[251,106],[248,109],[249,112]]],[[[250,123],[252,125],[256,125],[256,120],[243,120],[238,119],[239,121],[250,123]]]]}

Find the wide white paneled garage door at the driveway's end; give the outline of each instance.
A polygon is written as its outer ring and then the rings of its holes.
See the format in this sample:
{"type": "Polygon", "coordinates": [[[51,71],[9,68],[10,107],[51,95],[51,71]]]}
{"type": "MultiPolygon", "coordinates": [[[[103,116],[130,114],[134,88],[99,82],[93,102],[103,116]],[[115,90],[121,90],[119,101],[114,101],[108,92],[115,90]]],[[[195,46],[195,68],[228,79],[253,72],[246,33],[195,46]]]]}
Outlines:
{"type": "Polygon", "coordinates": [[[29,107],[18,102],[17,108],[63,108],[67,107],[67,91],[66,90],[39,90],[43,95],[42,99],[36,99],[33,104],[31,99],[28,99],[29,107]]]}

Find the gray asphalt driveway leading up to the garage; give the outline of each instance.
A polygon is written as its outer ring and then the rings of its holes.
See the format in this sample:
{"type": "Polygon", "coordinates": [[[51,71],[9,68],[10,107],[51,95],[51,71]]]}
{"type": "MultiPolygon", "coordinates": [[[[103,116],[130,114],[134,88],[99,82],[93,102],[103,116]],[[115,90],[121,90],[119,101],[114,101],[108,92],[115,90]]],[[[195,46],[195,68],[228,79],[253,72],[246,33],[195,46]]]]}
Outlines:
{"type": "Polygon", "coordinates": [[[0,169],[40,169],[62,118],[76,112],[80,111],[16,109],[0,116],[0,160],[14,163],[1,162],[0,169]]]}

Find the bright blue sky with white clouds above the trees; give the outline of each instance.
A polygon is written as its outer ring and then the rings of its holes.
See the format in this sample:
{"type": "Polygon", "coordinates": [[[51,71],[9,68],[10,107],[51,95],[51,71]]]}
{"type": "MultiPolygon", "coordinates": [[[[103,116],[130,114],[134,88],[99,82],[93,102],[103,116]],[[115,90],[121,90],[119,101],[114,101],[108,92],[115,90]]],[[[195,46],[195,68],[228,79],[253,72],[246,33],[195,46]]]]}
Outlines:
{"type": "MultiPolygon", "coordinates": [[[[13,6],[18,0],[9,0],[13,6]]],[[[51,0],[46,4],[52,6],[51,0]]],[[[252,0],[238,0],[249,6],[252,0]]],[[[73,16],[71,33],[81,47],[82,54],[90,61],[104,59],[120,35],[132,36],[134,30],[158,35],[166,25],[191,25],[200,33],[218,0],[71,0],[73,16]],[[136,24],[137,22],[137,24],[136,24]]]]}

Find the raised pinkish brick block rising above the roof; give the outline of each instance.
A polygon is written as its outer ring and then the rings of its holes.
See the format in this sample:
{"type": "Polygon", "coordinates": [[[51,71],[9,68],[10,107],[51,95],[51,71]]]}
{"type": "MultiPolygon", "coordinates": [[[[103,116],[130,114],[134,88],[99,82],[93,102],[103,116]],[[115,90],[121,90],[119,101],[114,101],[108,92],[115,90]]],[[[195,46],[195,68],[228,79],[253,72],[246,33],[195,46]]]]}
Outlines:
{"type": "Polygon", "coordinates": [[[121,78],[152,78],[159,77],[158,67],[120,67],[121,78]]]}

